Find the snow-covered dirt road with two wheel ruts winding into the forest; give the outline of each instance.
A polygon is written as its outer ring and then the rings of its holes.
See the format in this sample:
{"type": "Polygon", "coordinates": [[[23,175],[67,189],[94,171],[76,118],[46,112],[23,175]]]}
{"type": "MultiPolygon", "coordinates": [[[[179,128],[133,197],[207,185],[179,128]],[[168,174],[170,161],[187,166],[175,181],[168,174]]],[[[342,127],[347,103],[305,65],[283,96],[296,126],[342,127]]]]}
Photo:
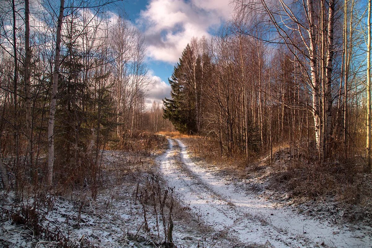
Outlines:
{"type": "Polygon", "coordinates": [[[216,231],[240,244],[268,247],[371,247],[371,233],[301,215],[244,192],[189,158],[186,146],[168,139],[160,170],[184,204],[216,231]]]}

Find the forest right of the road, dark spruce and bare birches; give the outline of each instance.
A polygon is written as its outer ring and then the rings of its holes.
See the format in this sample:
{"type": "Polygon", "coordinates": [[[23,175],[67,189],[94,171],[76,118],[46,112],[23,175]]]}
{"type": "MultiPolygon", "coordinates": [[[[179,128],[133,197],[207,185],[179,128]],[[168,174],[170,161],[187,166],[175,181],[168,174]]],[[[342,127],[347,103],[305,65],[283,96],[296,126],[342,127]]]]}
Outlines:
{"type": "Polygon", "coordinates": [[[234,4],[213,39],[194,38],[184,49],[164,117],[247,163],[287,143],[318,163],[363,157],[370,171],[365,2],[234,4]]]}

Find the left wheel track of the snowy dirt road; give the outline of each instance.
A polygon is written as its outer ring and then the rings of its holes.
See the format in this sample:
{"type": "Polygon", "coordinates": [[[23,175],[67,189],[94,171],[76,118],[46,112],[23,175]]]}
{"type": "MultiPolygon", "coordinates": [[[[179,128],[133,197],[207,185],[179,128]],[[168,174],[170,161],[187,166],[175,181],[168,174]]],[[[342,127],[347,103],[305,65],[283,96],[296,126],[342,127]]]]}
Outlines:
{"type": "MultiPolygon", "coordinates": [[[[276,240],[271,241],[271,244],[275,247],[286,245],[285,240],[280,240],[280,237],[273,233],[275,229],[270,230],[259,225],[258,220],[240,212],[225,196],[216,194],[208,184],[203,183],[202,178],[192,171],[182,170],[174,158],[177,150],[174,149],[173,142],[176,141],[169,139],[170,148],[160,158],[161,171],[167,184],[175,188],[180,199],[189,204],[194,213],[202,216],[207,225],[217,232],[229,229],[230,235],[243,243],[266,244],[268,236],[276,236],[276,240]]],[[[188,167],[186,164],[185,166],[188,167]]]]}

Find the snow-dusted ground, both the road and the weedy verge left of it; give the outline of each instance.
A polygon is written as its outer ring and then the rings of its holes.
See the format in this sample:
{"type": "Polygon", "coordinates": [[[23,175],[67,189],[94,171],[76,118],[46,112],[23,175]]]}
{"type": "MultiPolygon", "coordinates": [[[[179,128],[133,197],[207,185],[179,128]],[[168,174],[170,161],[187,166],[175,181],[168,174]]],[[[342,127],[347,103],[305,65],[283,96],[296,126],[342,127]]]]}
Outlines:
{"type": "Polygon", "coordinates": [[[38,230],[34,195],[19,203],[14,193],[1,193],[0,247],[164,247],[170,229],[176,247],[372,246],[370,228],[299,214],[194,162],[182,141],[168,142],[158,157],[105,151],[96,200],[89,187],[36,197],[38,230]]]}

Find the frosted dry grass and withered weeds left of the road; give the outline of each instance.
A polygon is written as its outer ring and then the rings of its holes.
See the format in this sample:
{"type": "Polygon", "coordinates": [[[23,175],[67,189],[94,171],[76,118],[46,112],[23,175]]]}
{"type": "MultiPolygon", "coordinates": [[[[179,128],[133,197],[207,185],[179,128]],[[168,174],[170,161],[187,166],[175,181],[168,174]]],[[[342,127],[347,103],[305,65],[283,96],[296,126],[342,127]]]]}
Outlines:
{"type": "MultiPolygon", "coordinates": [[[[9,207],[10,204],[4,204],[6,202],[1,199],[0,201],[3,203],[0,204],[0,225],[9,219],[11,222],[18,225],[15,227],[15,230],[24,233],[25,237],[35,235],[32,241],[39,241],[40,239],[43,242],[45,240],[45,242],[51,244],[51,246],[75,247],[75,245],[71,245],[74,242],[73,238],[70,240],[68,235],[64,236],[64,226],[68,226],[69,230],[74,232],[74,228],[80,225],[80,220],[81,223],[89,222],[90,218],[95,220],[93,221],[94,223],[106,222],[106,220],[109,222],[118,221],[118,223],[114,225],[114,231],[111,229],[105,231],[112,232],[113,236],[122,240],[120,242],[131,241],[134,242],[137,247],[144,247],[145,245],[160,247],[160,242],[164,241],[164,244],[168,245],[164,245],[164,247],[173,247],[173,245],[170,245],[172,244],[172,239],[164,238],[164,236],[171,237],[169,235],[172,233],[173,223],[172,225],[169,224],[169,222],[171,222],[170,215],[172,219],[174,218],[176,220],[174,222],[174,229],[184,228],[186,225],[183,223],[190,223],[195,226],[199,223],[190,212],[189,207],[181,206],[179,202],[177,202],[177,199],[173,197],[172,189],[167,188],[162,181],[158,180],[156,176],[158,164],[154,162],[154,156],[149,155],[147,152],[149,146],[149,142],[147,141],[149,140],[153,141],[155,154],[163,150],[163,146],[167,144],[167,140],[164,137],[157,135],[152,137],[151,135],[141,134],[137,136],[137,142],[140,144],[136,147],[129,147],[131,150],[129,152],[124,150],[104,152],[100,176],[100,178],[102,178],[102,184],[100,184],[97,189],[100,197],[94,201],[89,199],[90,192],[87,188],[89,188],[90,185],[87,185],[85,189],[81,190],[70,189],[70,191],[67,191],[67,189],[65,189],[64,192],[52,194],[50,197],[48,196],[49,192],[41,192],[43,194],[37,195],[35,193],[35,195],[31,194],[29,196],[24,195],[25,199],[35,199],[31,201],[33,205],[27,203],[28,205],[23,206],[19,202],[13,203],[12,200],[14,207],[9,207]],[[139,199],[140,197],[141,199],[139,199]],[[55,199],[58,201],[55,202],[55,199]],[[74,199],[74,204],[65,204],[64,200],[59,199],[71,199],[71,201],[74,199]],[[80,199],[82,200],[80,201],[80,199]],[[139,200],[141,200],[143,204],[140,204],[139,200]],[[130,204],[125,205],[129,202],[130,204]],[[124,203],[124,205],[121,205],[122,203],[124,203]],[[4,205],[8,208],[5,208],[4,205]],[[44,210],[44,205],[48,205],[47,210],[44,210]],[[67,217],[63,224],[55,228],[56,222],[45,219],[44,212],[47,211],[47,213],[51,212],[53,216],[60,216],[60,212],[58,211],[58,206],[60,205],[64,207],[63,212],[70,213],[68,211],[71,210],[73,215],[66,214],[67,217]],[[128,225],[127,221],[121,219],[120,213],[122,206],[125,206],[126,209],[124,213],[128,213],[128,209],[130,208],[130,214],[133,218],[131,226],[128,225]],[[75,209],[77,209],[76,212],[74,211],[75,209]],[[134,210],[133,212],[132,209],[134,210]],[[146,210],[146,219],[142,221],[144,223],[153,223],[155,222],[155,218],[158,218],[157,230],[150,230],[148,227],[145,228],[144,224],[139,224],[141,223],[141,218],[144,216],[144,210],[146,210]],[[91,216],[91,213],[94,214],[91,216]],[[110,218],[101,219],[99,217],[105,218],[106,215],[109,215],[110,218]],[[111,218],[111,216],[113,217],[111,218]],[[49,225],[45,227],[44,223],[49,222],[51,223],[50,226],[53,226],[55,229],[49,229],[49,225]],[[178,226],[178,223],[182,223],[182,227],[178,226]],[[163,230],[165,230],[164,233],[162,233],[163,230]],[[31,235],[28,234],[30,232],[31,235]],[[58,235],[54,235],[54,233],[58,235]],[[160,239],[158,239],[159,236],[160,239]],[[59,245],[54,245],[54,243],[58,243],[59,245]]],[[[4,194],[1,194],[0,198],[1,197],[4,197],[4,194]]],[[[60,219],[62,218],[64,218],[64,215],[62,215],[60,219]]],[[[200,224],[199,227],[202,229],[203,225],[200,224]]],[[[95,247],[93,242],[101,245],[99,239],[101,238],[101,228],[108,227],[105,225],[96,225],[93,227],[90,226],[89,228],[96,229],[97,235],[87,236],[86,239],[81,238],[81,242],[75,242],[74,244],[79,243],[80,247],[84,248],[95,247]],[[93,242],[90,242],[90,240],[93,242]]],[[[189,232],[193,232],[193,227],[190,226],[188,228],[189,232]]],[[[126,247],[125,244],[126,243],[123,243],[120,246],[126,247]]]]}

